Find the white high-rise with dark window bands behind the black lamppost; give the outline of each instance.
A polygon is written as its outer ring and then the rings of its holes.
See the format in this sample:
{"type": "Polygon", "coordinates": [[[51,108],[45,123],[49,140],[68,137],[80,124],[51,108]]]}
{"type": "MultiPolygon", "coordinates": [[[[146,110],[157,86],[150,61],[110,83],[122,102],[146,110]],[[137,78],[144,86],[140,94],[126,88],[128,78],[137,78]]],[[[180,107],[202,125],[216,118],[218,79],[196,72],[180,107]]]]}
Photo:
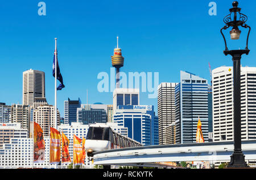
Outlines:
{"type": "MultiPolygon", "coordinates": [[[[233,140],[233,67],[212,71],[213,141],[233,140]]],[[[256,68],[241,67],[241,138],[256,139],[256,68]]]]}

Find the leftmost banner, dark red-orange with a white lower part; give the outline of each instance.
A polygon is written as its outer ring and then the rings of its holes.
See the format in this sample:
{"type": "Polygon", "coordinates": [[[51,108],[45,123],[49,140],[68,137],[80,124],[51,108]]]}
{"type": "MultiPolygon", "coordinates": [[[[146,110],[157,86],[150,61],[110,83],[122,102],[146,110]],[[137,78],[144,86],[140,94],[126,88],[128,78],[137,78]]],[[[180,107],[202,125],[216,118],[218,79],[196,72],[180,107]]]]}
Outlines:
{"type": "Polygon", "coordinates": [[[34,122],[34,162],[44,162],[44,143],[43,130],[38,123],[34,122]]]}

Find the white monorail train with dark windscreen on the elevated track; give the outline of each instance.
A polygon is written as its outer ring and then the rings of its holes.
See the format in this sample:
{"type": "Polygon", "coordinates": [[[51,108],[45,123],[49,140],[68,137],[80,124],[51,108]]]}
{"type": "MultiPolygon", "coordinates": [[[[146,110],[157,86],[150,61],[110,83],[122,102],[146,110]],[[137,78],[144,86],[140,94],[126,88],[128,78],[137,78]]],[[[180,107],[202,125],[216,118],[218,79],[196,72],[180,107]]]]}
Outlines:
{"type": "Polygon", "coordinates": [[[92,157],[93,152],[98,150],[118,149],[134,146],[142,146],[142,144],[113,131],[113,129],[107,124],[96,123],[89,125],[85,140],[85,150],[89,157],[92,157]]]}

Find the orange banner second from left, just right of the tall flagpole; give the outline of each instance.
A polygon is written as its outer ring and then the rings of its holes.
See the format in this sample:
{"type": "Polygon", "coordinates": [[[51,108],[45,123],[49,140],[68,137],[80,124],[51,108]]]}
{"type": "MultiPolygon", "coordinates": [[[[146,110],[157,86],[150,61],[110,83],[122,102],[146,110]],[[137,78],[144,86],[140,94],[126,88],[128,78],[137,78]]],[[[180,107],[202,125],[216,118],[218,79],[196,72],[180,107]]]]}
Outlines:
{"type": "Polygon", "coordinates": [[[50,163],[59,164],[60,162],[60,132],[55,128],[51,129],[51,144],[50,144],[50,163]]]}

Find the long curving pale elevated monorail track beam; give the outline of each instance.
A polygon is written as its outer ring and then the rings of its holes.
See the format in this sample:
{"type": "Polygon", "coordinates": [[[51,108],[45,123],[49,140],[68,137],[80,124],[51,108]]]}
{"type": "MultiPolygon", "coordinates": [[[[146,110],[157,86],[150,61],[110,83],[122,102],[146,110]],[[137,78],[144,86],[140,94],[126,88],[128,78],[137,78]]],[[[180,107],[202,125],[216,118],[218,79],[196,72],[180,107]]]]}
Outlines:
{"type": "MultiPolygon", "coordinates": [[[[233,141],[175,145],[139,146],[93,153],[96,165],[139,165],[152,162],[229,161],[233,141]]],[[[256,160],[256,140],[242,141],[245,160],[256,160]]]]}

